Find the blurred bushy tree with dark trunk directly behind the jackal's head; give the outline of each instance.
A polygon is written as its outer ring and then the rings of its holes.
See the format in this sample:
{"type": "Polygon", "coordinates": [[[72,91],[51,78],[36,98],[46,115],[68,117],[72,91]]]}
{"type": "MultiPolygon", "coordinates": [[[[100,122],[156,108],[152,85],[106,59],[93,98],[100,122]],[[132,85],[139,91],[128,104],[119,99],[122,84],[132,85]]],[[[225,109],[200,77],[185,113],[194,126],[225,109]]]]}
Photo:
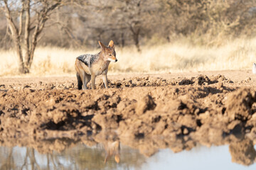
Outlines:
{"type": "MultiPolygon", "coordinates": [[[[80,21],[85,23],[88,31],[93,32],[90,38],[114,39],[124,46],[132,43],[140,51],[141,35],[150,35],[159,18],[159,5],[156,0],[90,0],[77,4],[80,21]]],[[[106,40],[107,41],[107,40],[106,40]]]]}

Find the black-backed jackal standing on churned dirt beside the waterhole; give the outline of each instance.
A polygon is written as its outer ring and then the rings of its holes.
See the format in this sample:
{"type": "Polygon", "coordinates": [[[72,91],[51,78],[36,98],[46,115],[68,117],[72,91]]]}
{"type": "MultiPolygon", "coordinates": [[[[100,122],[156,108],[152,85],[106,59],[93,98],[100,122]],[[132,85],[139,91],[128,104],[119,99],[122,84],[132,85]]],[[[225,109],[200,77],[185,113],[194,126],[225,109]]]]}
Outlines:
{"type": "Polygon", "coordinates": [[[92,89],[95,89],[95,77],[102,74],[107,85],[107,70],[110,62],[117,62],[114,42],[111,40],[108,47],[99,41],[101,51],[96,55],[80,55],[75,60],[75,70],[78,78],[78,89],[87,89],[87,83],[92,79],[92,89]]]}

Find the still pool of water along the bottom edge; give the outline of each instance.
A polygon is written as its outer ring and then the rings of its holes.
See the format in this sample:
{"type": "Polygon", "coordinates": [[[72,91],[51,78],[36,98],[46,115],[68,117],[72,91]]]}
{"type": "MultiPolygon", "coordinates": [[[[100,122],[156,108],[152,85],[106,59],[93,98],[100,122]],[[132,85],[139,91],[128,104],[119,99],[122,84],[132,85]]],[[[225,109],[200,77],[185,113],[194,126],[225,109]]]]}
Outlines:
{"type": "MultiPolygon", "coordinates": [[[[43,146],[36,148],[39,152],[32,147],[0,147],[0,169],[256,169],[256,164],[245,166],[245,163],[238,162],[248,161],[247,157],[252,157],[254,152],[242,149],[244,157],[241,154],[236,157],[231,154],[228,145],[196,145],[189,151],[178,153],[171,149],[159,149],[151,157],[119,142],[92,147],[80,142],[61,152],[49,152],[50,148],[44,149],[43,146]],[[232,157],[238,158],[235,159],[237,162],[233,162],[232,157]]],[[[251,149],[255,150],[255,146],[251,149]]]]}

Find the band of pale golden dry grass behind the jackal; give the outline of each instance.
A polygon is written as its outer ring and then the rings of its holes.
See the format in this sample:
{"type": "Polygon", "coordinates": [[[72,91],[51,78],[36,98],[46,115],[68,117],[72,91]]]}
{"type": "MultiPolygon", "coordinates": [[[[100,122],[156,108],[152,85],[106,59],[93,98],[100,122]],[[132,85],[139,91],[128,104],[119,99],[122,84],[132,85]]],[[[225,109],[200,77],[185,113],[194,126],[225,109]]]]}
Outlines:
{"type": "MultiPolygon", "coordinates": [[[[75,74],[75,57],[85,53],[95,54],[100,50],[83,51],[56,47],[39,47],[36,50],[31,74],[63,75],[75,74]]],[[[135,48],[116,47],[117,63],[110,64],[110,73],[120,72],[197,72],[210,70],[250,69],[256,62],[256,38],[237,39],[220,47],[193,46],[189,43],[135,48]]],[[[18,74],[18,63],[14,51],[1,51],[0,76],[18,74]]]]}

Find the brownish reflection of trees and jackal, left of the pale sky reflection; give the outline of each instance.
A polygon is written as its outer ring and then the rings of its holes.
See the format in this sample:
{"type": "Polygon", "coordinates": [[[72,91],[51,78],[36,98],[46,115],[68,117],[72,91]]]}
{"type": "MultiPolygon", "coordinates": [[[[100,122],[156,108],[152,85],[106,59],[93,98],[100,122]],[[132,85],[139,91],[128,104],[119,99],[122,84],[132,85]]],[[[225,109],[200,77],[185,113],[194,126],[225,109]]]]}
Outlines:
{"type": "Polygon", "coordinates": [[[0,169],[131,169],[141,166],[145,157],[136,149],[122,146],[121,150],[119,142],[113,142],[93,147],[78,144],[63,152],[47,154],[28,147],[0,147],[0,160],[0,169]]]}

